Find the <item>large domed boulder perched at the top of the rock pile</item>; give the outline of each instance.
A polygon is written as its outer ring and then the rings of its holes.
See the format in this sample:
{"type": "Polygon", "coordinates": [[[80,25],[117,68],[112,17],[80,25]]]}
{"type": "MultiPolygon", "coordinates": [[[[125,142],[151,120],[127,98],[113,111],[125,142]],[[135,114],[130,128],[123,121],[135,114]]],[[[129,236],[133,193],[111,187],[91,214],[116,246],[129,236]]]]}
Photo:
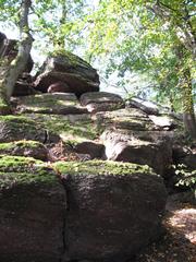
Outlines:
{"type": "Polygon", "coordinates": [[[57,83],[62,86],[58,92],[64,92],[66,86],[66,93],[75,93],[77,96],[99,91],[97,71],[79,57],[65,51],[47,58],[34,84],[35,88],[41,92],[47,92],[48,88],[50,92],[51,85],[57,83]]]}

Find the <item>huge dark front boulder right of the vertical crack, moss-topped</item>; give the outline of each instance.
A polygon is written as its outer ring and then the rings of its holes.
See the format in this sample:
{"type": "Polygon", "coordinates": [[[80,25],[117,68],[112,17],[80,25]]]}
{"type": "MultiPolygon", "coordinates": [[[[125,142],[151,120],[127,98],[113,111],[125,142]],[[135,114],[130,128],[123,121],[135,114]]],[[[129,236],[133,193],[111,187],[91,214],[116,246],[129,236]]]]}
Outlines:
{"type": "Polygon", "coordinates": [[[160,235],[166,189],[147,166],[73,162],[56,168],[68,191],[64,261],[123,262],[160,235]]]}

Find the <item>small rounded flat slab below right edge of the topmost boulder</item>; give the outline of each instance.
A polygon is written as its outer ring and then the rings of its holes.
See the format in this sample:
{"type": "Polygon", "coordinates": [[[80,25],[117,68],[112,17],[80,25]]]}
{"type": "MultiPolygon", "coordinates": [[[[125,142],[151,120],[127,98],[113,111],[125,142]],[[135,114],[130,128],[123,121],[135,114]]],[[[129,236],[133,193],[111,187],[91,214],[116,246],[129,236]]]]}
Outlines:
{"type": "Polygon", "coordinates": [[[83,94],[79,100],[89,112],[112,111],[125,107],[121,96],[107,92],[88,92],[83,94]]]}

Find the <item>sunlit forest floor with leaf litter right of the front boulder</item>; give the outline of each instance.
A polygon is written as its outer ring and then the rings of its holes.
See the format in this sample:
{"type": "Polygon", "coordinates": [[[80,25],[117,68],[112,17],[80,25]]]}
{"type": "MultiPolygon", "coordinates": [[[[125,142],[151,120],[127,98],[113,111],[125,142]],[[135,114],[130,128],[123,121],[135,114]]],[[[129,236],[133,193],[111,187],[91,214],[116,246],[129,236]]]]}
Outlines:
{"type": "Polygon", "coordinates": [[[166,235],[130,262],[196,262],[196,205],[169,198],[166,235]]]}

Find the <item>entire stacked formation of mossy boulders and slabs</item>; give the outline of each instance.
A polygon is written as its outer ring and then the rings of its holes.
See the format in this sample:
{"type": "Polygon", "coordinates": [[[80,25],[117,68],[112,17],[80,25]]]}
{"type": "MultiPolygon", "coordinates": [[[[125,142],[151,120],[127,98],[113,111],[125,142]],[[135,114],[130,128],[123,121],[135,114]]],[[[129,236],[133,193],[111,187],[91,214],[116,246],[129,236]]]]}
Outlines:
{"type": "Polygon", "coordinates": [[[99,92],[68,52],[30,85],[0,117],[0,261],[127,261],[162,234],[179,121],[99,92]]]}

